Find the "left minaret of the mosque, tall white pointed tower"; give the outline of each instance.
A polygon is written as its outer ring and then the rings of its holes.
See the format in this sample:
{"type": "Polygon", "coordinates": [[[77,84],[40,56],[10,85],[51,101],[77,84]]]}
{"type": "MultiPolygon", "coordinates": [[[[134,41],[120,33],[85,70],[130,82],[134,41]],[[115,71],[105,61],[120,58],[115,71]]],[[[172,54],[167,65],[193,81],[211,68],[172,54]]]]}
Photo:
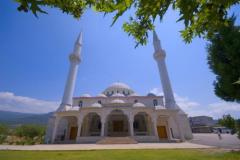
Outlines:
{"type": "Polygon", "coordinates": [[[62,103],[57,109],[57,111],[64,111],[68,107],[72,107],[72,98],[75,88],[78,65],[81,62],[81,48],[82,48],[82,32],[79,34],[75,42],[73,52],[69,55],[70,68],[64,89],[62,103]]]}

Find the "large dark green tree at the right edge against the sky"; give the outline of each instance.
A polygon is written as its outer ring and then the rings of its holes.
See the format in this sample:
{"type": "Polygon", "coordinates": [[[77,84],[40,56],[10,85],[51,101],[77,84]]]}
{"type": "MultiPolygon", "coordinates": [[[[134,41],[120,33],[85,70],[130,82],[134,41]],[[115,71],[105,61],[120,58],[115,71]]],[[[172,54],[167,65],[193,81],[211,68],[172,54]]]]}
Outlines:
{"type": "Polygon", "coordinates": [[[222,27],[207,47],[208,64],[216,74],[215,94],[226,101],[240,101],[240,85],[236,83],[240,76],[240,27],[230,25],[222,27]]]}

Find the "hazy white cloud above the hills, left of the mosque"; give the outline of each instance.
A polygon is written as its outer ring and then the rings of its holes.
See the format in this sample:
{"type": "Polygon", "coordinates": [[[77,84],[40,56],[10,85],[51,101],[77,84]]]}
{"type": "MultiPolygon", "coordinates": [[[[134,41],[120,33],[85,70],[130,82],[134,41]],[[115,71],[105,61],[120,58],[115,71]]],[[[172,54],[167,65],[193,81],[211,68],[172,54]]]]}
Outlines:
{"type": "Polygon", "coordinates": [[[0,92],[0,110],[4,111],[47,113],[56,110],[58,106],[59,102],[17,96],[12,92],[0,92]]]}

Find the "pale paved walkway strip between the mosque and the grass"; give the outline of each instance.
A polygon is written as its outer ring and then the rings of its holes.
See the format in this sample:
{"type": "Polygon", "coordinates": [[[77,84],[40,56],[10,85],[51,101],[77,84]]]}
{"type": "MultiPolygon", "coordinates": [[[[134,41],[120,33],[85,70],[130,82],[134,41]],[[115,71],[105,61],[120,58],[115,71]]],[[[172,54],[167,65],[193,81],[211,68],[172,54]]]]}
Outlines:
{"type": "Polygon", "coordinates": [[[42,144],[0,145],[0,150],[103,150],[103,149],[206,149],[212,146],[184,143],[138,143],[138,144],[42,144]]]}

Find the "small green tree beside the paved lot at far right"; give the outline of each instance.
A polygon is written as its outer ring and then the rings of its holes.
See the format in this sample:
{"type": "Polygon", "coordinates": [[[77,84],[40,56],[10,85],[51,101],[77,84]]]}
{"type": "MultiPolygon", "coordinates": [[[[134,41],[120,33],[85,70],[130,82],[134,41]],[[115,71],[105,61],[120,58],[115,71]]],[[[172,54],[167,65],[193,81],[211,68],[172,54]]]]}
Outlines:
{"type": "Polygon", "coordinates": [[[236,133],[235,120],[230,114],[223,115],[222,119],[218,120],[218,123],[224,127],[232,129],[232,134],[236,133]]]}

